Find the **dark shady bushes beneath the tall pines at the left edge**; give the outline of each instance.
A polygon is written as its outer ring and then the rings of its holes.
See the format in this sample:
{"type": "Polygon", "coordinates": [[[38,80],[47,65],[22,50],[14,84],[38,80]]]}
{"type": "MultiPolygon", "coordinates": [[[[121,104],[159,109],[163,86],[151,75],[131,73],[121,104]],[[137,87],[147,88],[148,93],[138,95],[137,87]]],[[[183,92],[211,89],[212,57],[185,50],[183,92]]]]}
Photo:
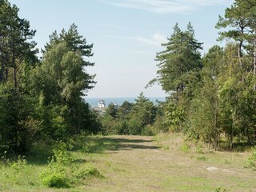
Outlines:
{"type": "MultiPolygon", "coordinates": [[[[39,130],[30,97],[0,84],[0,146],[17,154],[26,152],[39,130]]],[[[2,152],[2,151],[0,151],[2,152]]]]}

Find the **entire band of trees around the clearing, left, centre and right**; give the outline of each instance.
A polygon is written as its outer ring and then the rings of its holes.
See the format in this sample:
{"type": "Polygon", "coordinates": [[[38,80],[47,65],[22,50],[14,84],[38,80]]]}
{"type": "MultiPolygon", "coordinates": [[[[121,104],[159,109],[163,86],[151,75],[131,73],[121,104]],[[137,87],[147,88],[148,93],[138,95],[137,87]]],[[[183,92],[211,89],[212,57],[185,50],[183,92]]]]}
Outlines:
{"type": "Polygon", "coordinates": [[[74,134],[145,134],[181,131],[218,148],[225,136],[256,143],[256,19],[254,0],[236,0],[219,17],[219,40],[201,55],[189,23],[178,23],[157,53],[158,82],[169,94],[154,105],[143,94],[135,103],[111,104],[106,113],[90,110],[84,97],[95,85],[93,44],[69,30],[54,31],[38,58],[35,30],[19,18],[18,7],[0,0],[0,153],[21,154],[38,140],[65,141],[74,134]]]}

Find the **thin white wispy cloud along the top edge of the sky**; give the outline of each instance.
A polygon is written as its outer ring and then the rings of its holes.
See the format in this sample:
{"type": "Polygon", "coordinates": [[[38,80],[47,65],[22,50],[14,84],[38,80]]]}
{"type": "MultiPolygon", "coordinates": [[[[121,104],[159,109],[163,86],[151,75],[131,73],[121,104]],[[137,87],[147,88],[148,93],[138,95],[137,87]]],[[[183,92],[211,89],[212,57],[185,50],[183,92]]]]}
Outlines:
{"type": "Polygon", "coordinates": [[[202,6],[230,5],[234,0],[101,0],[112,6],[157,14],[188,14],[202,6]]]}

